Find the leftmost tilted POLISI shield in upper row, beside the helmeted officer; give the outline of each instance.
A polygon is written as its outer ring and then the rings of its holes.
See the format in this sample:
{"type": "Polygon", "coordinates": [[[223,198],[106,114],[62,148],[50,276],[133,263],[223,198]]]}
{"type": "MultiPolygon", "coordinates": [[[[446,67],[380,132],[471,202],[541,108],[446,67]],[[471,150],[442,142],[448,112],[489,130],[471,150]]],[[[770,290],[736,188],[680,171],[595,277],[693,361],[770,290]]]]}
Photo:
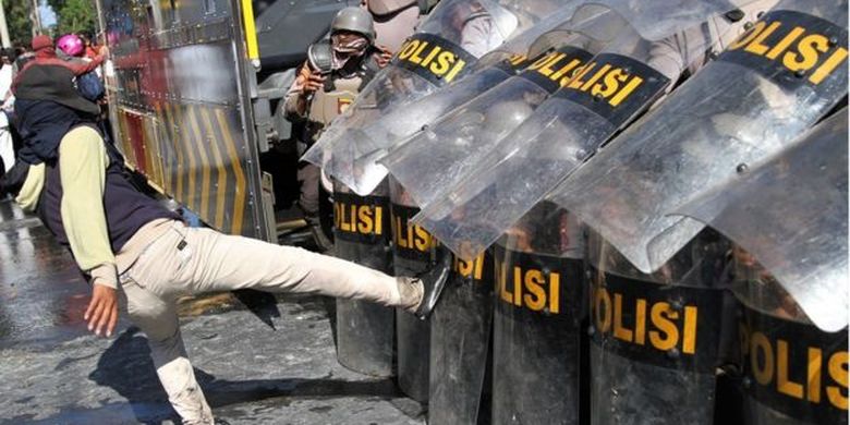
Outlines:
{"type": "Polygon", "coordinates": [[[361,90],[303,159],[338,179],[353,175],[356,170],[348,160],[352,154],[347,151],[350,130],[463,77],[478,58],[532,27],[557,5],[554,0],[440,1],[390,65],[361,90]]]}

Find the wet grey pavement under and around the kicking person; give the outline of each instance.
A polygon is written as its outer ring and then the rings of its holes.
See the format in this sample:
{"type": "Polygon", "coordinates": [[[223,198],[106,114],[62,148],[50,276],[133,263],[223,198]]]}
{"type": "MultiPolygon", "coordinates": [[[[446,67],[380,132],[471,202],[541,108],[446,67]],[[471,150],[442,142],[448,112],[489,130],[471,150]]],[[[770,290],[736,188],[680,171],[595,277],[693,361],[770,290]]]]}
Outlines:
{"type": "MultiPolygon", "coordinates": [[[[82,321],[88,295],[40,221],[0,201],[0,424],[179,423],[144,333],[122,318],[113,338],[90,336],[82,321]]],[[[183,338],[216,416],[229,424],[423,424],[423,406],[392,380],[337,363],[332,306],[278,296],[260,320],[230,294],[184,300],[183,338]]]]}

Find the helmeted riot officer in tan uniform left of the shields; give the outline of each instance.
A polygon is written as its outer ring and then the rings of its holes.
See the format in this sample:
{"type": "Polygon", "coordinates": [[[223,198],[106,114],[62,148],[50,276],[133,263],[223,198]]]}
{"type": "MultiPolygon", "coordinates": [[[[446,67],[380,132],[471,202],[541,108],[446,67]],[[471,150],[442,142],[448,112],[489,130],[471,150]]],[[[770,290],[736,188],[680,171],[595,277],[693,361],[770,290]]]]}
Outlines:
{"type": "MultiPolygon", "coordinates": [[[[284,105],[290,120],[305,123],[302,136],[305,146],[300,147],[309,147],[317,141],[330,121],[344,111],[360,89],[389,62],[389,52],[376,46],[375,37],[372,15],[360,8],[345,8],[333,17],[330,38],[308,48],[307,61],[292,83],[284,105]]],[[[329,248],[330,241],[319,226],[321,171],[302,162],[298,179],[301,183],[299,206],[319,247],[329,248]]]]}

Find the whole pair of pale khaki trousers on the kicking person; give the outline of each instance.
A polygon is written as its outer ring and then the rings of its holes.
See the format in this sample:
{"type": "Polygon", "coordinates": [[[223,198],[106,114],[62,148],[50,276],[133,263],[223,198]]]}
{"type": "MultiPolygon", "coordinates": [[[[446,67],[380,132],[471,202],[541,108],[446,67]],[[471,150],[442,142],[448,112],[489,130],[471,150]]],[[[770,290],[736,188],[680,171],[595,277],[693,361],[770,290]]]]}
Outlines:
{"type": "Polygon", "coordinates": [[[120,280],[130,318],[147,335],[157,375],[184,424],[211,424],[212,414],[180,336],[179,295],[253,288],[400,303],[396,278],[353,263],[178,221],[170,227],[120,280]]]}

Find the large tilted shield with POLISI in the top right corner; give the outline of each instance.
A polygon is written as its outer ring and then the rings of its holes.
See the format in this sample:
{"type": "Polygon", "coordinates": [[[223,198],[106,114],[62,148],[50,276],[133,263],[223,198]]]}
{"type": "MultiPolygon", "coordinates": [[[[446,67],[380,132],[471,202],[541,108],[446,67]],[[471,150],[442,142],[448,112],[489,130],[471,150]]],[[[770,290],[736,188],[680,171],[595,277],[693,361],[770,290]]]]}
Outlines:
{"type": "Polygon", "coordinates": [[[550,198],[640,270],[657,269],[703,228],[668,212],[780,150],[847,96],[847,13],[846,0],[780,2],[550,198]]]}

